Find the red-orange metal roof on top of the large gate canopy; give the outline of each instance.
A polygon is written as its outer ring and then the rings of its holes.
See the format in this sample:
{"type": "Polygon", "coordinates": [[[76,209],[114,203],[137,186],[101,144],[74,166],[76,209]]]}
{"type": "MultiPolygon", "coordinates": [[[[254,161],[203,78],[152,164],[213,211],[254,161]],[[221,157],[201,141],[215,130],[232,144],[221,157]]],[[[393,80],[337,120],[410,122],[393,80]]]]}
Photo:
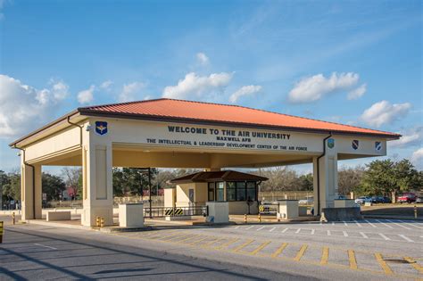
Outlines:
{"type": "Polygon", "coordinates": [[[238,124],[257,127],[294,128],[324,132],[377,135],[398,138],[400,135],[369,128],[360,128],[327,121],[311,120],[276,112],[218,104],[174,99],[156,99],[131,103],[113,103],[83,107],[81,114],[127,118],[153,118],[157,120],[192,120],[211,123],[238,124]]]}

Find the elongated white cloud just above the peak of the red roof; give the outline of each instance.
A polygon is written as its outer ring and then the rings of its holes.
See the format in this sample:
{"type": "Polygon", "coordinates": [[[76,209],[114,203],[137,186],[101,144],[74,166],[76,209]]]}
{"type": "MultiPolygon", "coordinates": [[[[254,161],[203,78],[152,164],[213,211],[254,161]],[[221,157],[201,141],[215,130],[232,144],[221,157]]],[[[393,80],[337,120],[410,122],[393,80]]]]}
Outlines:
{"type": "Polygon", "coordinates": [[[204,93],[223,90],[232,79],[232,73],[212,73],[209,76],[198,76],[195,72],[188,73],[178,81],[177,86],[168,86],[163,90],[163,97],[185,99],[191,95],[201,97],[204,93]]]}

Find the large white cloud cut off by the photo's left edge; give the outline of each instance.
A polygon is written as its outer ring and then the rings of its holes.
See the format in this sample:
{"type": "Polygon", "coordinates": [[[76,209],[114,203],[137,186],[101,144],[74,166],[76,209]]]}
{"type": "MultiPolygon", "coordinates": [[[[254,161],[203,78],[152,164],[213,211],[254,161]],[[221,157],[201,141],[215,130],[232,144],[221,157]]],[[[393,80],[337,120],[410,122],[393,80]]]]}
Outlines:
{"type": "Polygon", "coordinates": [[[62,101],[56,90],[37,90],[0,74],[0,137],[21,136],[54,118],[62,101]]]}

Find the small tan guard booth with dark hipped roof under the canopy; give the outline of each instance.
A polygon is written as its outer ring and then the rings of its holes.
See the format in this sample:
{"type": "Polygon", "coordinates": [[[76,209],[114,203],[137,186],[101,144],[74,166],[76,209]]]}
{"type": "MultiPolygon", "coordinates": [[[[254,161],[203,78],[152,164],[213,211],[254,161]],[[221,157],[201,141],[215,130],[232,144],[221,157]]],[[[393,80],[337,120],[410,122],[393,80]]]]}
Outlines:
{"type": "Polygon", "coordinates": [[[201,171],[170,180],[175,191],[165,191],[165,207],[198,208],[206,202],[228,202],[231,215],[258,213],[258,186],[268,178],[235,170],[201,171]]]}

